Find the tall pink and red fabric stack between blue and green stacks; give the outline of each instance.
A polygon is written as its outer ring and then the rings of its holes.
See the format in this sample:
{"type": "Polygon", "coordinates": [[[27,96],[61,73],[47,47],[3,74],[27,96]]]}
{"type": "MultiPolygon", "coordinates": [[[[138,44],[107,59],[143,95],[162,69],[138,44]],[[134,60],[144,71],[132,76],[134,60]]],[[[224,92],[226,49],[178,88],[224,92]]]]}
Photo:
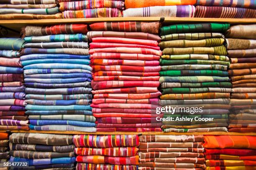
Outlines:
{"type": "Polygon", "coordinates": [[[159,23],[94,23],[87,36],[97,131],[161,131],[159,23]],[[106,31],[104,31],[106,30],[106,31]],[[119,31],[119,32],[113,32],[119,31]],[[128,32],[124,32],[128,31],[128,32]]]}

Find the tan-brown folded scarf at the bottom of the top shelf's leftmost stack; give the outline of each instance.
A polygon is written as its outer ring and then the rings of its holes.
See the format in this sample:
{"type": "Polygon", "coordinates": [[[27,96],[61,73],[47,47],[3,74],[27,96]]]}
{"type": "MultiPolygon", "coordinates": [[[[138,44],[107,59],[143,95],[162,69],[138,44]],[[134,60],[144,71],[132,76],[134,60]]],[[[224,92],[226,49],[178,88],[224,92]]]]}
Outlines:
{"type": "Polygon", "coordinates": [[[1,20],[41,20],[41,19],[62,19],[61,13],[53,15],[40,14],[1,14],[1,20]]]}

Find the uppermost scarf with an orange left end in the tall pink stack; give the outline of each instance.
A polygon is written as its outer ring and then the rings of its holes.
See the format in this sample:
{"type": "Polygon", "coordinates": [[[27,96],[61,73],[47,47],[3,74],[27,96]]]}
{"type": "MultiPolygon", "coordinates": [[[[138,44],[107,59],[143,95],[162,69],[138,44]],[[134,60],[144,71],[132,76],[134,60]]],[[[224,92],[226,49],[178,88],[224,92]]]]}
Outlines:
{"type": "Polygon", "coordinates": [[[133,66],[158,66],[159,61],[151,60],[110,60],[110,59],[92,59],[92,65],[133,65],[133,66]]]}

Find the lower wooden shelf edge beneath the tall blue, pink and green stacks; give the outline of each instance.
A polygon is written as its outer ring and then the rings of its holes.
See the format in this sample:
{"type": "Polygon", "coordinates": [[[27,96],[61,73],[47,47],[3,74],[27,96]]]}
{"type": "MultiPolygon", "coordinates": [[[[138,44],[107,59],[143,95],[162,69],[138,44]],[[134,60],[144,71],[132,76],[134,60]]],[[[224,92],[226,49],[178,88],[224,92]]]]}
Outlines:
{"type": "MultiPolygon", "coordinates": [[[[0,132],[6,132],[6,130],[0,130],[0,132]]],[[[37,130],[11,130],[12,133],[50,133],[50,134],[70,134],[70,135],[251,135],[256,136],[256,133],[235,133],[235,132],[195,132],[195,133],[164,133],[164,132],[79,132],[79,131],[37,131],[37,130]]]]}

